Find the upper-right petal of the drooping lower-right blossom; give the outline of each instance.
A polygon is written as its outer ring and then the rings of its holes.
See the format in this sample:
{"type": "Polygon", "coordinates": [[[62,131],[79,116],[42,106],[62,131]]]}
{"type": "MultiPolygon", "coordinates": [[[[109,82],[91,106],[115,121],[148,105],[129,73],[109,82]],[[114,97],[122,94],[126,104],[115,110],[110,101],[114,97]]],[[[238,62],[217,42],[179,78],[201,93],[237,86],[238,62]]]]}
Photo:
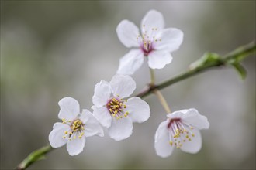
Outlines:
{"type": "Polygon", "coordinates": [[[182,121],[186,124],[198,129],[209,128],[209,121],[207,120],[207,117],[199,114],[198,110],[192,108],[189,110],[181,110],[181,112],[183,113],[182,121]]]}

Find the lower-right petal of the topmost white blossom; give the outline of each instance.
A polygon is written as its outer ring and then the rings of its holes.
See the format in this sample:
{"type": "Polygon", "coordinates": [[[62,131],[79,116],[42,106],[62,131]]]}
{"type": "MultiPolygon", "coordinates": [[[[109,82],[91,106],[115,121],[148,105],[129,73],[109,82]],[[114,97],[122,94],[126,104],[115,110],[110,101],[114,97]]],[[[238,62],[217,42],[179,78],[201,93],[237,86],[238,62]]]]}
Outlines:
{"type": "Polygon", "coordinates": [[[172,56],[168,51],[153,51],[148,55],[148,66],[151,69],[162,69],[171,60],[172,56]]]}

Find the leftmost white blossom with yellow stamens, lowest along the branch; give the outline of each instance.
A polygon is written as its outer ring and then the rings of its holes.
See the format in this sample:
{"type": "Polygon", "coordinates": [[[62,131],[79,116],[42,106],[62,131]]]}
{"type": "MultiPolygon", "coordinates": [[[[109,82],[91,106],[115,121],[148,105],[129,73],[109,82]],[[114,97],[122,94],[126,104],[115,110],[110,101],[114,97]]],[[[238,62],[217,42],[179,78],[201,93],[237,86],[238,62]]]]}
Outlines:
{"type": "Polygon", "coordinates": [[[67,144],[68,154],[78,155],[85,147],[85,138],[93,135],[104,136],[99,121],[88,110],[80,113],[78,101],[71,97],[64,97],[59,101],[61,110],[58,117],[62,120],[54,124],[49,134],[50,145],[59,148],[67,144]]]}

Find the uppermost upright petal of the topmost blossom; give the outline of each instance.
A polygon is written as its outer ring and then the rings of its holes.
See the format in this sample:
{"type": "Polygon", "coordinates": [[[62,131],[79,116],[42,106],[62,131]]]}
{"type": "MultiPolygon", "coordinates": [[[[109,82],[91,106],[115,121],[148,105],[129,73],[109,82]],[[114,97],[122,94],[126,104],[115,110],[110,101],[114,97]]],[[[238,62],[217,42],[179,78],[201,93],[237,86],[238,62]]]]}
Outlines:
{"type": "Polygon", "coordinates": [[[142,34],[145,31],[147,31],[150,34],[151,30],[156,28],[157,30],[164,29],[163,15],[155,10],[150,10],[142,19],[140,28],[142,34]]]}

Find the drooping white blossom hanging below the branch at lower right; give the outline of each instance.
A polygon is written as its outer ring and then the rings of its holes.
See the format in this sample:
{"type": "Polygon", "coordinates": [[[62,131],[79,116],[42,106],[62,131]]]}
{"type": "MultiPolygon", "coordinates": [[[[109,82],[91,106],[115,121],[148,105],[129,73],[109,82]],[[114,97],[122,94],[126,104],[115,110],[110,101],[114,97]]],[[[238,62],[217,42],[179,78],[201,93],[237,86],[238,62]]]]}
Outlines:
{"type": "Polygon", "coordinates": [[[155,134],[154,148],[157,155],[165,158],[174,148],[195,154],[202,148],[201,129],[208,129],[209,122],[198,110],[179,110],[168,114],[155,134]]]}

